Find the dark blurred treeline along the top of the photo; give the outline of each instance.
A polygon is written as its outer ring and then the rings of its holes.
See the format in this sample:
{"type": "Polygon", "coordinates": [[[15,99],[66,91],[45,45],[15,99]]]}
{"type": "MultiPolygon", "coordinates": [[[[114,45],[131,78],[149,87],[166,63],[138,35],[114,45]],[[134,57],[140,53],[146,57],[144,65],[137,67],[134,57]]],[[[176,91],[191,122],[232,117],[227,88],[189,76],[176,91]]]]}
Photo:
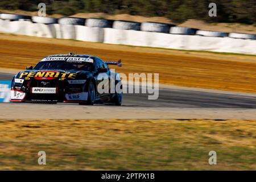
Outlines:
{"type": "Polygon", "coordinates": [[[142,16],[164,16],[175,22],[200,19],[208,22],[239,22],[255,24],[255,0],[1,0],[0,9],[38,10],[46,3],[47,14],[108,13],[142,16]],[[209,3],[217,5],[217,17],[209,17],[209,3]]]}

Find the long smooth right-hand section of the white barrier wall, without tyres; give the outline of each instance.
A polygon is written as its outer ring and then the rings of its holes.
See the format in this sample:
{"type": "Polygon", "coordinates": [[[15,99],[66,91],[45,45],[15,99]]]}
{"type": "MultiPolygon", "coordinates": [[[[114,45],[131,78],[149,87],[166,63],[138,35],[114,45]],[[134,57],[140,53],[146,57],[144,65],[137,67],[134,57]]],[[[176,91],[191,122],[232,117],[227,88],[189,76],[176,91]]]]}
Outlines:
{"type": "Polygon", "coordinates": [[[104,28],[104,43],[195,51],[256,54],[256,41],[104,28]]]}

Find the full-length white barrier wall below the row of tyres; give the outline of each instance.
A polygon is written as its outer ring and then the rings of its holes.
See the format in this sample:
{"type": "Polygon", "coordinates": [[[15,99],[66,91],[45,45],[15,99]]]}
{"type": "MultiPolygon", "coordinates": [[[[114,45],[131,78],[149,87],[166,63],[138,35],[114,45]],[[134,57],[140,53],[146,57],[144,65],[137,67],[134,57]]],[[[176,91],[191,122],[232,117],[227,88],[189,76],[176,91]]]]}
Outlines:
{"type": "Polygon", "coordinates": [[[164,34],[159,32],[87,27],[72,24],[43,24],[2,19],[0,19],[0,32],[130,46],[256,54],[256,40],[253,39],[164,34]]]}

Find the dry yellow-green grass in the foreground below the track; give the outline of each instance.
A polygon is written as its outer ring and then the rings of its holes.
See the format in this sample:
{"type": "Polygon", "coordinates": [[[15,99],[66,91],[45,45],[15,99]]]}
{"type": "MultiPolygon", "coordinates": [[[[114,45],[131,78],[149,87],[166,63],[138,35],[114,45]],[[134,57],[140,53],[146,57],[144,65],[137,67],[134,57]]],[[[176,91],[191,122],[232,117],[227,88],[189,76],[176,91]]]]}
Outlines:
{"type": "Polygon", "coordinates": [[[256,169],[255,121],[0,119],[0,130],[0,169],[256,169]]]}

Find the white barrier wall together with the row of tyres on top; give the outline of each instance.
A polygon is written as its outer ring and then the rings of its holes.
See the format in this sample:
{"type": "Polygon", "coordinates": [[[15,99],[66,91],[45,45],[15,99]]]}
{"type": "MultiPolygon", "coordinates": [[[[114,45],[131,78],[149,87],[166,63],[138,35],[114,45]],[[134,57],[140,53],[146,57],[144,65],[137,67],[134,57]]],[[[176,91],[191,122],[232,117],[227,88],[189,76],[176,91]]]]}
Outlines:
{"type": "Polygon", "coordinates": [[[9,15],[3,17],[5,19],[0,19],[0,32],[7,34],[130,46],[256,54],[256,35],[253,34],[228,35],[225,32],[175,27],[173,24],[141,24],[120,20],[113,22],[96,18],[86,19],[85,25],[82,25],[84,19],[78,23],[81,20],[79,18],[60,18],[57,23],[58,19],[48,17],[32,16],[32,21],[20,21],[18,18],[22,16],[10,15],[10,19],[6,19],[9,15]]]}

